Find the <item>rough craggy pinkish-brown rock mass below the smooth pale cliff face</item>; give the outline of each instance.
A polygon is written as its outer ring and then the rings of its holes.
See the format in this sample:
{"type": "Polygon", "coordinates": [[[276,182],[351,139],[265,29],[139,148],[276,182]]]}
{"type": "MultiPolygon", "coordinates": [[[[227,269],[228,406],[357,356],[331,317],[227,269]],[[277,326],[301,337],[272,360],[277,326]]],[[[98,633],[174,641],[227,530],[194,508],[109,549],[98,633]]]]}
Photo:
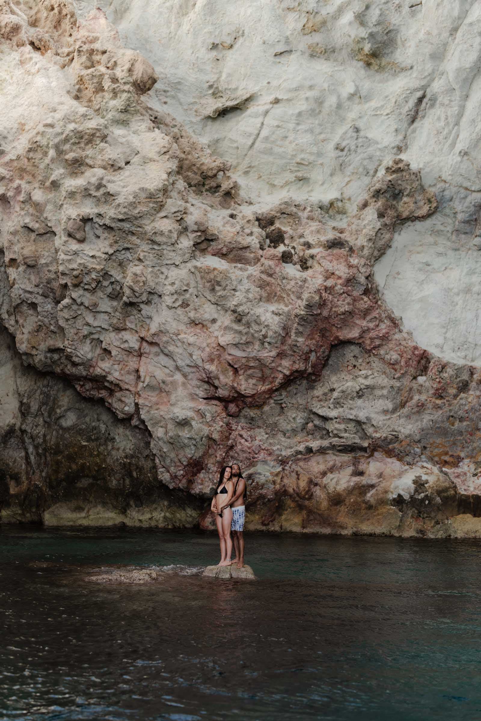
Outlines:
{"type": "MultiPolygon", "coordinates": [[[[479,371],[415,345],[372,274],[397,227],[436,213],[418,170],[393,159],[347,215],[253,207],[229,163],[143,101],[156,72],[102,11],[77,23],[70,4],[49,7],[1,6],[13,80],[0,111],[0,319],[22,361],[50,374],[50,404],[69,381],[110,408],[83,401],[90,426],[102,413],[112,438],[122,429],[119,447],[96,439],[112,475],[131,444],[128,492],[141,477],[166,495],[157,511],[149,492],[140,506],[114,492],[111,516],[84,513],[81,481],[66,500],[50,493],[47,459],[35,518],[194,524],[235,457],[251,528],[478,533],[451,518],[477,516],[479,371]]],[[[64,448],[78,455],[76,438],[64,448]]],[[[89,454],[81,477],[100,478],[89,454]]],[[[25,466],[25,492],[39,463],[25,466]]]]}

